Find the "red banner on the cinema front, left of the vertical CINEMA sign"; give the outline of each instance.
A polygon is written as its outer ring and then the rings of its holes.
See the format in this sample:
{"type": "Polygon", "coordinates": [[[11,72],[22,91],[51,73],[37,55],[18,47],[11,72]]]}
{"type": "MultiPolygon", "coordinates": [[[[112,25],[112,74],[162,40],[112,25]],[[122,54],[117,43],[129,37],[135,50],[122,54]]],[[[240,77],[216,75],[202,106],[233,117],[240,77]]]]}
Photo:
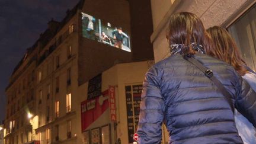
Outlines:
{"type": "Polygon", "coordinates": [[[97,120],[108,107],[108,90],[104,91],[100,97],[83,101],[81,103],[82,132],[97,120]]]}

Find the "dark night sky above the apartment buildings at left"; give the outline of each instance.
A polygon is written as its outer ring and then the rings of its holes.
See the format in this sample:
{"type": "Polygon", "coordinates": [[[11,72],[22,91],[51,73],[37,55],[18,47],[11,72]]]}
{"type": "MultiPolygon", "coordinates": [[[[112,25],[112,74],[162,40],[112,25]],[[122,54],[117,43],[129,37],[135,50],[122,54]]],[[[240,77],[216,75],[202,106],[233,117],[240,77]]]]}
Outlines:
{"type": "MultiPolygon", "coordinates": [[[[0,0],[0,120],[5,117],[5,88],[17,63],[53,20],[61,21],[79,0],[0,0]]],[[[1,122],[0,121],[0,122],[1,122]]]]}

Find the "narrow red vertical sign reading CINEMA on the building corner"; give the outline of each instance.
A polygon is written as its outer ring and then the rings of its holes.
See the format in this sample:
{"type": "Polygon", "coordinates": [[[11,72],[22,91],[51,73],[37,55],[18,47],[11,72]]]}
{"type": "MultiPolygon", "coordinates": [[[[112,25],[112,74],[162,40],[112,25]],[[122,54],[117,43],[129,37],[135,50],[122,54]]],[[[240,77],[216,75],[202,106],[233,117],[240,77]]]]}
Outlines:
{"type": "Polygon", "coordinates": [[[114,86],[109,87],[110,95],[110,119],[111,121],[116,121],[116,97],[115,97],[115,88],[114,86]]]}

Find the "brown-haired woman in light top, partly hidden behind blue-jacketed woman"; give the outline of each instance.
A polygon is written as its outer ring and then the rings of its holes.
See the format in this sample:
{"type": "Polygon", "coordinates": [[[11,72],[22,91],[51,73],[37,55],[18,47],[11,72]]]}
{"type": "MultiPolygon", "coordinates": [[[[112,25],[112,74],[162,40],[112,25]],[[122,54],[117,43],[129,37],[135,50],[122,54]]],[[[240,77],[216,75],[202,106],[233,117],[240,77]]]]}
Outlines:
{"type": "MultiPolygon", "coordinates": [[[[256,75],[249,71],[248,67],[238,51],[235,41],[229,35],[225,28],[214,26],[207,30],[210,39],[212,39],[213,47],[207,49],[207,54],[223,60],[235,68],[236,72],[248,82],[248,84],[256,90],[256,75]]],[[[252,124],[235,110],[235,123],[238,133],[242,137],[244,143],[256,143],[256,131],[252,124]]]]}

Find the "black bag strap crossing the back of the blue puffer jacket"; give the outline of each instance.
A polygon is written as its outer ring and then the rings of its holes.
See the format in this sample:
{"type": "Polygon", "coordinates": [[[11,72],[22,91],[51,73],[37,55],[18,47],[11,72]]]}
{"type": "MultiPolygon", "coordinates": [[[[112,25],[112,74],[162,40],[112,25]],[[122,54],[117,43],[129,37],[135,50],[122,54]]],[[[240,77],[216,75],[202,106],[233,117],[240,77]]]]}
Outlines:
{"type": "Polygon", "coordinates": [[[206,68],[205,66],[203,66],[197,59],[195,59],[190,54],[185,54],[183,56],[183,58],[185,60],[187,60],[188,62],[192,63],[193,65],[195,65],[197,68],[199,68],[200,71],[202,71],[204,73],[204,75],[206,75],[210,80],[213,81],[213,83],[217,86],[217,88],[220,90],[220,92],[222,92],[222,94],[224,95],[224,97],[228,101],[229,105],[232,108],[232,111],[234,111],[234,106],[233,106],[233,103],[232,103],[232,95],[229,94],[229,92],[222,85],[222,83],[213,75],[212,70],[210,70],[210,69],[206,68]]]}

